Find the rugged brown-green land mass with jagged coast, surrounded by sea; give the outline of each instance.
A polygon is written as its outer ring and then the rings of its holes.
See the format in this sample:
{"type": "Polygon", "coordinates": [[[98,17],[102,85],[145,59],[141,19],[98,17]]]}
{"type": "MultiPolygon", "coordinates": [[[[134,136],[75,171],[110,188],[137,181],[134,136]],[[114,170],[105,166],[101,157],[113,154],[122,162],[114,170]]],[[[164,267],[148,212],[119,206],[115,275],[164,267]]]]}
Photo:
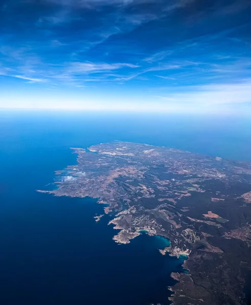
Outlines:
{"type": "MultiPolygon", "coordinates": [[[[104,204],[118,243],[145,230],[168,238],[160,249],[186,254],[172,273],[175,304],[245,304],[251,267],[251,164],[130,142],[72,148],[77,165],[57,171],[55,196],[104,204]]],[[[96,216],[98,221],[101,216],[96,216]]]]}

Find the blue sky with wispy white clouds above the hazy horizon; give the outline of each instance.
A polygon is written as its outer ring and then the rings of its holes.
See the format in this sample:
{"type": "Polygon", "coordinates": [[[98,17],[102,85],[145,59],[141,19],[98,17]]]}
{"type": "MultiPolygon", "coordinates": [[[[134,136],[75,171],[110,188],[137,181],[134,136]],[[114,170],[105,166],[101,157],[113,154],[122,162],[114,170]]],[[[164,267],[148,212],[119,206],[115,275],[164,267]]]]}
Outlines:
{"type": "Polygon", "coordinates": [[[0,108],[251,114],[251,0],[2,0],[0,108]]]}

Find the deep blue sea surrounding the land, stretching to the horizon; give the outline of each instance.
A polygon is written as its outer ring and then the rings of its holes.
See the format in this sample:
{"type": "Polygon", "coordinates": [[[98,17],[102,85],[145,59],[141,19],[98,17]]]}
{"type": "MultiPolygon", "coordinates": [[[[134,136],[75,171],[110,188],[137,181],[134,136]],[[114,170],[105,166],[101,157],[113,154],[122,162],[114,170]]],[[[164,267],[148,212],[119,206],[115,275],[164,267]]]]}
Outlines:
{"type": "MultiPolygon", "coordinates": [[[[37,189],[75,164],[69,147],[123,140],[251,162],[251,121],[231,117],[0,112],[0,304],[169,304],[166,240],[117,245],[96,200],[37,189]]],[[[51,186],[52,188],[52,186],[51,186]]]]}

